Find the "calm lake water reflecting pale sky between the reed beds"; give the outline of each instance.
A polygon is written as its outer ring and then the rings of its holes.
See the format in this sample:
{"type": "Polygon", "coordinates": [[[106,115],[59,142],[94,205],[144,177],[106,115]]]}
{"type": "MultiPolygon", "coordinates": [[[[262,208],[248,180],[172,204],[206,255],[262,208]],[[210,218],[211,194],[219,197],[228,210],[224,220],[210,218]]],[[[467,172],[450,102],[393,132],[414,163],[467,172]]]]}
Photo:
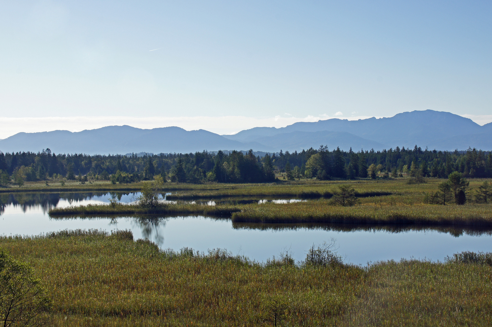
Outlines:
{"type": "MultiPolygon", "coordinates": [[[[39,235],[64,229],[130,229],[134,238],[149,238],[161,248],[192,247],[207,251],[225,248],[256,261],[265,261],[289,250],[300,261],[314,243],[336,239],[338,253],[346,262],[367,262],[400,258],[444,260],[447,255],[470,250],[492,252],[492,229],[456,227],[374,226],[354,224],[250,224],[204,216],[161,217],[142,220],[55,219],[47,211],[89,203],[108,203],[108,198],[131,202],[139,194],[92,193],[0,193],[0,235],[39,235]]],[[[297,201],[279,198],[207,199],[204,205],[228,201],[282,203],[297,201]],[[279,200],[279,201],[277,201],[279,200]]],[[[198,202],[198,201],[197,201],[198,202]]]]}

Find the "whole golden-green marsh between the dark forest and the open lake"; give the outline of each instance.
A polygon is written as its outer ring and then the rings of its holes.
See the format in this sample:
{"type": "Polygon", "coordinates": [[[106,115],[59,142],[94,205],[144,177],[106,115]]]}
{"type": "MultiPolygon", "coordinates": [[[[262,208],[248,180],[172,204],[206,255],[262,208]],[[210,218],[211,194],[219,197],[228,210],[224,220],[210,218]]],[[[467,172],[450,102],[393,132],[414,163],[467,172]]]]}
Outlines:
{"type": "MultiPolygon", "coordinates": [[[[455,178],[456,179],[456,178],[455,178]]],[[[107,214],[209,214],[230,217],[234,222],[259,223],[376,223],[376,224],[445,224],[492,226],[490,201],[482,201],[481,195],[487,180],[466,181],[458,177],[455,184],[451,179],[428,179],[426,183],[408,183],[407,179],[381,179],[357,181],[314,181],[272,184],[209,184],[212,189],[178,191],[168,195],[167,199],[218,199],[221,197],[258,197],[294,196],[310,198],[302,202],[257,201],[246,204],[222,204],[213,206],[197,204],[194,201],[155,202],[154,206],[141,203],[112,205],[87,205],[79,207],[53,208],[50,215],[107,215],[107,214]],[[445,183],[449,186],[449,199],[454,199],[460,190],[468,194],[470,200],[460,204],[456,201],[439,202],[442,196],[439,190],[445,183]],[[461,185],[461,186],[460,186],[461,185]],[[342,191],[344,189],[344,191],[342,191]],[[345,192],[345,193],[343,193],[345,192]],[[347,193],[348,192],[348,193],[347,193]],[[473,199],[473,194],[479,195],[473,199]],[[345,195],[340,195],[345,194],[345,195]],[[304,195],[304,196],[303,196],[304,195]],[[306,196],[308,195],[308,196],[306,196]],[[333,196],[335,195],[335,196],[333,196]],[[429,201],[429,195],[435,198],[429,201]],[[346,197],[346,198],[345,198],[346,197]],[[346,202],[345,202],[346,200],[346,202]],[[441,205],[438,205],[441,203],[441,205]],[[442,205],[444,204],[444,205],[442,205]]],[[[154,182],[164,185],[160,181],[154,182]]],[[[162,192],[154,187],[152,196],[162,192]]],[[[166,184],[167,186],[167,184],[166,184]]],[[[202,185],[204,187],[205,185],[202,185]]],[[[488,194],[486,192],[486,194],[488,194]]]]}

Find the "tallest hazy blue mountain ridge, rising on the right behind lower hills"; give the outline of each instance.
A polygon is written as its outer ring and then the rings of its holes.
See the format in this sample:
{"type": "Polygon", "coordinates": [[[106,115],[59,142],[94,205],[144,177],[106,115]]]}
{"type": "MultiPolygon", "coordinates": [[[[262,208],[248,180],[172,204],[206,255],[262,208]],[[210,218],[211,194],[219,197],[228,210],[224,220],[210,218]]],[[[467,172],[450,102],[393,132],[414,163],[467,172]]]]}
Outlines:
{"type": "Polygon", "coordinates": [[[296,122],[281,128],[255,127],[234,135],[223,136],[240,142],[253,142],[262,137],[293,131],[347,132],[377,142],[387,148],[394,148],[397,145],[413,147],[417,144],[430,149],[467,149],[469,146],[492,149],[490,137],[489,140],[486,137],[487,135],[492,136],[492,123],[480,126],[471,119],[433,110],[404,112],[390,118],[380,119],[374,117],[359,120],[334,118],[316,122],[296,122]],[[456,139],[458,136],[461,138],[456,139]]]}

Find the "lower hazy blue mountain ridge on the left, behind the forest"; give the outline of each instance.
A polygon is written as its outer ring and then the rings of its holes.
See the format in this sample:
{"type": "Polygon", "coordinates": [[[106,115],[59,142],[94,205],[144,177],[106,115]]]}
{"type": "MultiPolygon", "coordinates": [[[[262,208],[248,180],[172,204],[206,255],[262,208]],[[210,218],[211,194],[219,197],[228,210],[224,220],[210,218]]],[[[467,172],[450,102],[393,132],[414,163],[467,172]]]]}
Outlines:
{"type": "Polygon", "coordinates": [[[203,129],[186,131],[176,126],[141,129],[128,125],[106,126],[80,132],[56,130],[39,133],[17,133],[0,141],[0,150],[4,152],[20,150],[37,152],[41,149],[50,148],[55,153],[87,154],[187,153],[259,146],[261,145],[255,142],[242,143],[229,140],[203,129]]]}

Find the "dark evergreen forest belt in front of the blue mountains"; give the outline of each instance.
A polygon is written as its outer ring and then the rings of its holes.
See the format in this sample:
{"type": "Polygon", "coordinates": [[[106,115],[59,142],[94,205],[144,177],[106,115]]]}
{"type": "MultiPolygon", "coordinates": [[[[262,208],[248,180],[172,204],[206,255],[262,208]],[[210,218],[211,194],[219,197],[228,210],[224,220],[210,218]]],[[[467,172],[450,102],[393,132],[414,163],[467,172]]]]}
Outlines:
{"type": "Polygon", "coordinates": [[[317,178],[376,178],[410,176],[447,178],[460,172],[466,178],[492,178],[492,152],[477,149],[437,151],[396,147],[375,151],[318,149],[267,153],[263,157],[248,152],[195,152],[137,156],[55,154],[40,152],[0,152],[0,184],[19,179],[27,181],[53,178],[112,180],[128,183],[153,179],[174,182],[271,182],[276,175],[289,180],[317,178]]]}

